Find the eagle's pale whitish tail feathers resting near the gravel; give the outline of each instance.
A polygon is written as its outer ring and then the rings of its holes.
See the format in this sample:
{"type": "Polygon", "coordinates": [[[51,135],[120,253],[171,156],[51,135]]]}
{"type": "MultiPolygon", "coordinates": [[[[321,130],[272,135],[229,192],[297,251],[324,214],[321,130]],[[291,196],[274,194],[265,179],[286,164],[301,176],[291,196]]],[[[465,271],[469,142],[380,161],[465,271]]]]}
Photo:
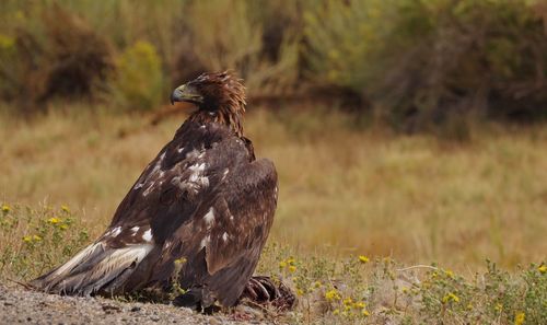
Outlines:
{"type": "Polygon", "coordinates": [[[31,286],[59,294],[117,292],[152,248],[150,243],[113,248],[96,242],[63,265],[35,279],[31,286]]]}

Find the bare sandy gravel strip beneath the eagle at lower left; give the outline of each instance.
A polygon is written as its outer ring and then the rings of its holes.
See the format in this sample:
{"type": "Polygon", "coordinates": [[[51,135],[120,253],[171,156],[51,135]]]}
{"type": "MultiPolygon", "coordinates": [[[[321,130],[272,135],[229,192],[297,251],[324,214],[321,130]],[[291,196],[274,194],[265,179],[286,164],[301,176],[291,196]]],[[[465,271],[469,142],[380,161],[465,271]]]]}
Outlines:
{"type": "MultiPolygon", "coordinates": [[[[252,311],[248,311],[252,312],[252,311]]],[[[0,285],[0,324],[267,324],[257,314],[201,315],[173,305],[59,297],[0,285]],[[241,318],[241,316],[244,318],[241,318]]]]}

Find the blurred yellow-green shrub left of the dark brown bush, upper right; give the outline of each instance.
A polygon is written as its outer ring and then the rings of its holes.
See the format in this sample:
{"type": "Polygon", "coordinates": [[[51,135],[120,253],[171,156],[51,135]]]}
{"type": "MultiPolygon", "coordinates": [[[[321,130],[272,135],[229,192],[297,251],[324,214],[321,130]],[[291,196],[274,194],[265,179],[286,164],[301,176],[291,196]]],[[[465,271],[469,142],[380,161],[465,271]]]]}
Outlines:
{"type": "Polygon", "coordinates": [[[306,59],[316,81],[362,92],[393,24],[393,1],[315,1],[306,7],[306,59]]]}

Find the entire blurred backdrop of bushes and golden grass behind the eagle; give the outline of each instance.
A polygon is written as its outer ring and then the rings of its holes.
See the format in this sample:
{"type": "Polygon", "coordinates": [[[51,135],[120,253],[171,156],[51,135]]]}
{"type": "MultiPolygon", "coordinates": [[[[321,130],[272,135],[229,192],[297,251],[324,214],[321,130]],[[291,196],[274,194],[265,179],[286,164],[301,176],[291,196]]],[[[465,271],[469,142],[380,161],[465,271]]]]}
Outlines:
{"type": "Polygon", "coordinates": [[[274,240],[545,258],[542,0],[3,0],[0,202],[68,204],[98,235],[184,120],[150,117],[224,69],[279,171],[274,240]]]}

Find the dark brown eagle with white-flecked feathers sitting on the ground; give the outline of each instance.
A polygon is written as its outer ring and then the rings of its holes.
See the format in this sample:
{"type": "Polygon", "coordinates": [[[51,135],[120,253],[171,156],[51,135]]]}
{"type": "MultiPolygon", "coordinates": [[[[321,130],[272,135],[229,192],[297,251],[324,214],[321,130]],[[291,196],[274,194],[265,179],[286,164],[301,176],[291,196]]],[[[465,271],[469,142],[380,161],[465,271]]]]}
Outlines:
{"type": "Polygon", "coordinates": [[[242,80],[203,73],[176,88],[171,102],[197,109],[131,186],[108,229],[31,286],[112,295],[177,285],[179,304],[201,309],[233,306],[244,290],[271,292],[252,276],[274,221],[278,177],[244,135],[242,80]]]}

